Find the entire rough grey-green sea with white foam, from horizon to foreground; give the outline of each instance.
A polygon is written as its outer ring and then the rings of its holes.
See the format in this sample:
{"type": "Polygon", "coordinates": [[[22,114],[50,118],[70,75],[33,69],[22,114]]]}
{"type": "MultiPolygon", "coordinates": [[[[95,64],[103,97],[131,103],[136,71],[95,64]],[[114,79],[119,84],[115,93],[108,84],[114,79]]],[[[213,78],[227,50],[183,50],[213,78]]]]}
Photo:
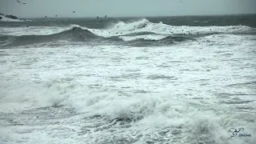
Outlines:
{"type": "Polygon", "coordinates": [[[256,15],[0,22],[1,144],[255,144],[256,15]]]}

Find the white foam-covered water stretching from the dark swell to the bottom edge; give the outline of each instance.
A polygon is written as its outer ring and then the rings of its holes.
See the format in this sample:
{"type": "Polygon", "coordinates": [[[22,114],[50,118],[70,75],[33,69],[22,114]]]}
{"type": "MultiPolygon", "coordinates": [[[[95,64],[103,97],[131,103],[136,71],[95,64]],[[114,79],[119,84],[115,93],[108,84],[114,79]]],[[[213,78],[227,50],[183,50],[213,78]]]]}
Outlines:
{"type": "Polygon", "coordinates": [[[255,47],[254,35],[214,34],[1,49],[0,143],[254,144],[255,47]]]}

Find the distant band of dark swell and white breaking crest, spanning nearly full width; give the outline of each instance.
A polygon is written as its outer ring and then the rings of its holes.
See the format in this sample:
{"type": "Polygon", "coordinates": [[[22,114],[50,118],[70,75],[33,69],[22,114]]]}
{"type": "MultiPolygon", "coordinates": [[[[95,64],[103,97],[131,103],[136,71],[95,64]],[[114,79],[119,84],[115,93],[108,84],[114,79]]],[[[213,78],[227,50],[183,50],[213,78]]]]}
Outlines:
{"type": "MultiPolygon", "coordinates": [[[[252,29],[254,28],[249,26],[169,26],[162,22],[153,23],[143,18],[137,22],[118,22],[106,30],[89,29],[78,25],[18,27],[17,30],[4,28],[0,39],[4,41],[1,43],[7,46],[58,41],[109,43],[113,40],[122,44],[129,44],[127,42],[138,44],[138,41],[141,41],[138,45],[143,45],[146,41],[159,41],[166,45],[205,37],[209,34],[246,34],[251,33],[252,29]]],[[[155,43],[150,42],[150,44],[155,43]]],[[[161,44],[157,43],[157,45],[161,44]]]]}

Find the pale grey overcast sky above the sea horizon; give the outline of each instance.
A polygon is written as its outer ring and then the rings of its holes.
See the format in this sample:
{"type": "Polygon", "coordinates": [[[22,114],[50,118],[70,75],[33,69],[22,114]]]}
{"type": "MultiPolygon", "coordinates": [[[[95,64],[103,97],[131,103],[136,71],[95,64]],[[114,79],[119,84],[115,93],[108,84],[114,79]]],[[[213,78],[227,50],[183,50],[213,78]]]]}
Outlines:
{"type": "Polygon", "coordinates": [[[256,0],[0,0],[0,13],[20,18],[256,14],[256,0]],[[73,14],[73,11],[75,13],[73,14]]]}

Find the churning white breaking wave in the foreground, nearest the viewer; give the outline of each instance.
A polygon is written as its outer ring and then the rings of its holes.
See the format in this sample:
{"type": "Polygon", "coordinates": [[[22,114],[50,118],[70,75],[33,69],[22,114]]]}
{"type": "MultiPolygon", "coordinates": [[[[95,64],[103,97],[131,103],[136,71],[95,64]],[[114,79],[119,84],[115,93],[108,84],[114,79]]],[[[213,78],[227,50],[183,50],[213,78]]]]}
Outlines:
{"type": "MultiPolygon", "coordinates": [[[[144,142],[165,142],[170,135],[173,142],[181,143],[254,142],[253,138],[230,138],[226,132],[230,127],[246,123],[246,131],[254,134],[254,114],[232,114],[232,110],[218,114],[207,110],[208,105],[198,107],[196,101],[185,96],[177,97],[164,92],[125,96],[118,91],[90,90],[78,82],[57,80],[38,84],[26,82],[26,85],[24,81],[9,81],[0,86],[4,88],[0,92],[0,103],[4,104],[0,106],[0,112],[8,109],[4,106],[11,105],[12,110],[19,113],[21,106],[24,106],[22,114],[36,115],[26,121],[20,119],[20,124],[34,123],[38,117],[53,119],[76,115],[79,121],[75,122],[81,126],[79,135],[87,137],[88,141],[93,139],[87,129],[93,129],[95,134],[101,132],[98,137],[102,142],[109,142],[110,134],[144,142]],[[45,114],[46,110],[50,110],[51,114],[45,114]],[[79,114],[82,114],[81,118],[79,114]],[[109,133],[109,130],[113,131],[109,133]],[[143,131],[144,137],[133,137],[138,130],[143,131]]],[[[212,107],[216,109],[218,106],[212,107]]],[[[70,119],[70,122],[73,120],[70,119]]]]}

